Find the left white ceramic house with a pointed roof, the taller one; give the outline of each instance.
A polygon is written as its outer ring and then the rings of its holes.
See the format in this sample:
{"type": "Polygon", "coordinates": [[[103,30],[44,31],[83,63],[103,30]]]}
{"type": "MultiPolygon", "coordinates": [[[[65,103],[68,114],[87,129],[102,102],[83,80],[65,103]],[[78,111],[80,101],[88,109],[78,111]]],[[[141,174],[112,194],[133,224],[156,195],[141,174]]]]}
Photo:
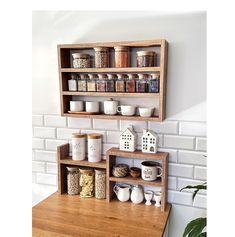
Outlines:
{"type": "Polygon", "coordinates": [[[120,150],[135,151],[137,144],[137,135],[130,125],[120,135],[120,150]]]}

